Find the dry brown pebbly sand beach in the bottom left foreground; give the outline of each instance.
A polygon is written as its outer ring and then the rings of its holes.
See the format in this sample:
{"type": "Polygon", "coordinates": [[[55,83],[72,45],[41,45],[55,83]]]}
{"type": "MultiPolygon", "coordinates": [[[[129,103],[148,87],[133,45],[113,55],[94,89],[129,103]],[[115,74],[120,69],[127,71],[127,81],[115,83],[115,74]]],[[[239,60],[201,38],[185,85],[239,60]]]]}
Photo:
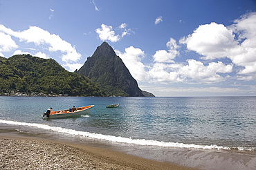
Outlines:
{"type": "Polygon", "coordinates": [[[0,135],[0,169],[192,169],[80,144],[0,135]]]}

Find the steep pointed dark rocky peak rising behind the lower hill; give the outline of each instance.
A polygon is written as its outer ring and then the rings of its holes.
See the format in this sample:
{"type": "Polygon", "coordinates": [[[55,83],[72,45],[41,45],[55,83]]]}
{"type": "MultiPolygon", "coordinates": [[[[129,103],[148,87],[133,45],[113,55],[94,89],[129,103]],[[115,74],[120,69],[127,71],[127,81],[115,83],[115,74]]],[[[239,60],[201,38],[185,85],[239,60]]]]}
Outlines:
{"type": "Polygon", "coordinates": [[[98,46],[77,73],[91,79],[108,95],[145,96],[122,59],[116,55],[107,42],[98,46]]]}

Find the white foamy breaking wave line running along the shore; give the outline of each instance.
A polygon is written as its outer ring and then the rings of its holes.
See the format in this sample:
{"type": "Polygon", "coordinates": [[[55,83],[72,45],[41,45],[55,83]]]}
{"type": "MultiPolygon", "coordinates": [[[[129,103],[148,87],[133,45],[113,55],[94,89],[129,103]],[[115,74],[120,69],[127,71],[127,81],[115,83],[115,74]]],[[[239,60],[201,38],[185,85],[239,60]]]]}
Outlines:
{"type": "Polygon", "coordinates": [[[99,133],[90,133],[86,131],[76,131],[73,129],[66,129],[57,126],[48,126],[46,124],[37,124],[37,123],[26,123],[26,122],[15,122],[10,120],[0,120],[1,124],[12,124],[17,126],[33,126],[39,129],[45,129],[49,131],[57,131],[59,133],[66,133],[69,135],[77,135],[86,138],[96,139],[96,140],[106,140],[109,142],[118,142],[125,144],[138,144],[143,146],[154,146],[154,147],[175,147],[175,148],[183,148],[183,149],[217,149],[217,150],[231,150],[237,149],[239,151],[255,151],[255,147],[223,147],[217,146],[215,144],[212,145],[200,145],[200,144],[183,144],[179,142],[162,142],[157,140],[145,140],[145,139],[132,139],[132,138],[124,138],[120,136],[113,135],[103,135],[99,133]]]}

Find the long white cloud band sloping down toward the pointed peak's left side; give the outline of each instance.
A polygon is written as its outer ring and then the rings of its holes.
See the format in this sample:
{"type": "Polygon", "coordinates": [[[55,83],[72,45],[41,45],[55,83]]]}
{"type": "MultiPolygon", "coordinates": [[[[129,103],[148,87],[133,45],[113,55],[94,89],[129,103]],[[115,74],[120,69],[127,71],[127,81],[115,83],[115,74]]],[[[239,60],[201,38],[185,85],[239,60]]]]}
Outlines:
{"type": "Polygon", "coordinates": [[[63,62],[76,62],[81,58],[80,53],[77,53],[75,50],[75,46],[71,46],[71,44],[61,39],[60,36],[51,35],[47,30],[43,30],[37,26],[30,26],[28,30],[15,32],[0,25],[0,32],[17,37],[20,41],[26,41],[26,43],[33,43],[37,46],[48,46],[50,52],[61,52],[63,62]]]}

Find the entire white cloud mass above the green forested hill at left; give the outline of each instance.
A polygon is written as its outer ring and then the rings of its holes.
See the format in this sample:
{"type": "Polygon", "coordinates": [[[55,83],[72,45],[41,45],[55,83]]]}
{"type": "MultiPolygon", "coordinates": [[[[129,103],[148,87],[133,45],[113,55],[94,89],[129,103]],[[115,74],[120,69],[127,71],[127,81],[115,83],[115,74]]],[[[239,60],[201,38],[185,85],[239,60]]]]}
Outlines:
{"type": "Polygon", "coordinates": [[[44,59],[49,58],[45,51],[56,53],[62,59],[67,69],[69,68],[68,70],[75,70],[75,66],[80,68],[80,64],[75,62],[81,58],[81,55],[77,53],[75,46],[71,46],[67,41],[60,38],[59,35],[51,34],[37,26],[30,26],[28,30],[24,31],[14,31],[0,24],[0,55],[3,56],[3,53],[12,50],[15,50],[13,55],[30,54],[44,59]],[[13,38],[15,38],[15,41],[13,38]],[[24,52],[21,49],[17,50],[17,48],[20,48],[16,44],[17,39],[19,40],[19,45],[25,43],[26,46],[29,46],[26,49],[32,50],[32,53],[24,52]],[[36,53],[33,52],[35,50],[37,50],[36,53]]]}

